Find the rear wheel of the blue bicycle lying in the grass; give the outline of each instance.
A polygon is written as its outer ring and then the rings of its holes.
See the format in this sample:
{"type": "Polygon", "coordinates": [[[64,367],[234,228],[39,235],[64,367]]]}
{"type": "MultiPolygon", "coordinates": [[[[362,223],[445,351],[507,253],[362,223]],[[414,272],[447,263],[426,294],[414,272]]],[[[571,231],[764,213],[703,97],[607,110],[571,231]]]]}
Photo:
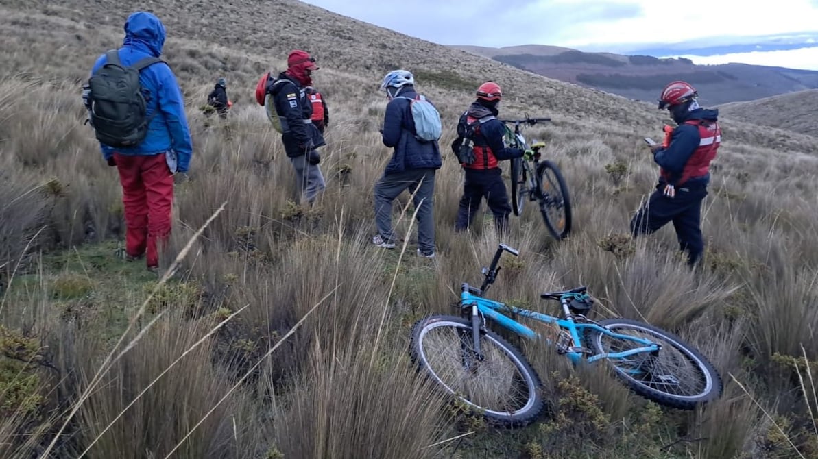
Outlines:
{"type": "MultiPolygon", "coordinates": [[[[600,325],[621,335],[645,338],[661,345],[658,354],[634,354],[608,359],[618,377],[636,394],[672,408],[693,409],[721,396],[721,377],[712,363],[679,336],[631,319],[605,319],[600,325]]],[[[636,341],[596,332],[591,336],[596,353],[622,352],[642,345],[636,341]]]]}

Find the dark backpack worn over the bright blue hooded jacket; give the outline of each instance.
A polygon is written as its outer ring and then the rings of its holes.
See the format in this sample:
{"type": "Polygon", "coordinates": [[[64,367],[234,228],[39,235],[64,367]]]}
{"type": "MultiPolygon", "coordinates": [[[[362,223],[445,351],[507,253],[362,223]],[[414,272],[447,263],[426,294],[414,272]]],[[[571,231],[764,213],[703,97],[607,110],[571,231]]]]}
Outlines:
{"type": "Polygon", "coordinates": [[[147,101],[139,71],[164,60],[146,57],[134,65],[122,65],[117,50],[108,51],[106,56],[105,65],[88,78],[88,121],[102,144],[133,147],[145,139],[148,123],[155,115],[146,116],[147,101]]]}

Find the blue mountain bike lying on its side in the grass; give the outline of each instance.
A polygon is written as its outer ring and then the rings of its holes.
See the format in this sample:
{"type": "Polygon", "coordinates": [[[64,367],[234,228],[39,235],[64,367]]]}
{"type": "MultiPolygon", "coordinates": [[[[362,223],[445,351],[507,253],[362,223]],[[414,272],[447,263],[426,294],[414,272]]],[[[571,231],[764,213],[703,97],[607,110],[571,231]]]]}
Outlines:
{"type": "Polygon", "coordinates": [[[585,286],[542,293],[545,300],[560,301],[562,318],[484,298],[497,279],[502,252],[519,255],[500,244],[492,264],[483,268],[483,285],[461,285],[462,317],[431,315],[411,331],[410,353],[420,369],[488,421],[526,426],[537,419],[544,401],[537,372],[519,350],[487,328],[487,318],[520,336],[546,339],[575,364],[607,361],[632,391],[656,403],[693,409],[721,396],[721,376],[712,363],[679,336],[631,319],[588,319],[593,299],[585,286]],[[533,319],[544,333],[501,311],[533,319]]]}

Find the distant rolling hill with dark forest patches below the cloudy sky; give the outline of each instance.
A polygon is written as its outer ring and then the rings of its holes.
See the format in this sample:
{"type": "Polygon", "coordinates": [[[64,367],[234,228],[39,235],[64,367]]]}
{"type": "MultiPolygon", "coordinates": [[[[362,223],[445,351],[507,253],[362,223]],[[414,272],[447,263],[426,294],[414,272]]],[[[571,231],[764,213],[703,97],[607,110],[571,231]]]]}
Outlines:
{"type": "Polygon", "coordinates": [[[652,103],[670,79],[693,84],[705,105],[818,88],[818,72],[762,65],[694,65],[690,60],[583,52],[538,45],[456,46],[536,74],[652,103]]]}

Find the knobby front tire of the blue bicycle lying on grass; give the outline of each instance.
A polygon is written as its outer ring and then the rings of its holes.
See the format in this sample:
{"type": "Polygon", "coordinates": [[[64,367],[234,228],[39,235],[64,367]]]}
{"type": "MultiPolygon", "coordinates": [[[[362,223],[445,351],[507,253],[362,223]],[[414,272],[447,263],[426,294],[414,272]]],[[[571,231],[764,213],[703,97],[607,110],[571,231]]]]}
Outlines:
{"type": "MultiPolygon", "coordinates": [[[[462,402],[470,405],[470,407],[476,408],[477,411],[481,412],[488,421],[492,421],[494,424],[508,427],[522,427],[528,426],[537,419],[545,406],[540,390],[542,386],[540,378],[537,376],[537,372],[535,372],[531,367],[531,364],[528,363],[528,360],[519,352],[519,350],[515,348],[515,346],[510,345],[508,341],[504,340],[501,336],[497,335],[497,333],[492,332],[491,330],[486,328],[480,329],[481,345],[483,345],[483,343],[492,343],[496,345],[497,348],[503,352],[506,359],[510,360],[510,362],[514,364],[520,376],[523,377],[525,388],[528,390],[528,394],[525,396],[526,399],[523,408],[519,408],[519,410],[514,411],[491,409],[483,407],[479,403],[474,403],[469,396],[458,394],[455,390],[452,390],[452,388],[443,382],[443,379],[441,379],[440,376],[438,376],[438,372],[429,363],[429,357],[431,357],[431,355],[427,353],[424,347],[424,340],[428,332],[434,328],[452,328],[457,332],[457,335],[461,335],[461,333],[465,334],[467,339],[465,339],[464,336],[460,336],[461,350],[464,344],[470,345],[470,340],[472,338],[472,325],[469,320],[451,315],[431,315],[425,317],[424,319],[420,319],[412,327],[410,345],[411,358],[417,363],[420,370],[424,371],[427,376],[431,377],[432,380],[443,388],[443,390],[445,390],[451,397],[460,399],[462,402]]],[[[498,377],[497,379],[500,378],[498,377]]]]}

